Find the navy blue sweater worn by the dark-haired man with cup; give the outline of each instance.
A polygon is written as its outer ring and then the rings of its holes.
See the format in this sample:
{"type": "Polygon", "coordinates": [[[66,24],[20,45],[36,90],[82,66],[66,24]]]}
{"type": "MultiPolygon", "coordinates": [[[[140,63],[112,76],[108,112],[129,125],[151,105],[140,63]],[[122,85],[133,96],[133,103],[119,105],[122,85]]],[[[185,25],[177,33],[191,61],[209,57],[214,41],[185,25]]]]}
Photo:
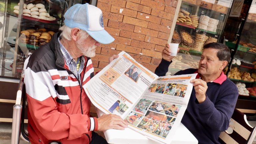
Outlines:
{"type": "MultiPolygon", "coordinates": [[[[162,59],[155,70],[158,76],[165,76],[171,62],[162,59]]],[[[186,69],[175,75],[193,74],[197,69],[186,69]]],[[[222,84],[207,83],[206,100],[198,103],[195,90],[192,90],[188,107],[181,122],[197,138],[199,144],[218,144],[221,131],[229,126],[238,98],[236,85],[226,79],[222,84]]]]}

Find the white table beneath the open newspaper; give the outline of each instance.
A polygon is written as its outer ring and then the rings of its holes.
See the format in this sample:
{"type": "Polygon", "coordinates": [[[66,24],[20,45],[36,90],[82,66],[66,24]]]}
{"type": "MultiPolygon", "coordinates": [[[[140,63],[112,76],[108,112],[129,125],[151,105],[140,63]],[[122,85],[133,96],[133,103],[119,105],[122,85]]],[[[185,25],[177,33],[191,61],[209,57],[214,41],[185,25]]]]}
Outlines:
{"type": "MultiPolygon", "coordinates": [[[[103,112],[97,108],[96,111],[99,117],[103,114],[103,112]]],[[[104,135],[110,144],[158,144],[130,128],[126,128],[125,130],[106,130],[104,131],[104,135]]],[[[198,144],[198,141],[192,133],[180,123],[171,144],[198,144]]]]}

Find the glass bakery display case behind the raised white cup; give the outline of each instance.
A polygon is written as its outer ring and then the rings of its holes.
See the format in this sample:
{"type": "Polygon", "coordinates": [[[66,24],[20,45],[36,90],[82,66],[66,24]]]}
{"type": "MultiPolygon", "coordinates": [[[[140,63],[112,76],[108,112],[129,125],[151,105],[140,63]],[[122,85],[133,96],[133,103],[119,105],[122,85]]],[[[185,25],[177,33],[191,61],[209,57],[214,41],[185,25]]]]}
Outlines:
{"type": "Polygon", "coordinates": [[[167,74],[198,68],[203,46],[221,41],[232,2],[182,0],[172,37],[172,43],[179,43],[180,51],[167,74]]]}

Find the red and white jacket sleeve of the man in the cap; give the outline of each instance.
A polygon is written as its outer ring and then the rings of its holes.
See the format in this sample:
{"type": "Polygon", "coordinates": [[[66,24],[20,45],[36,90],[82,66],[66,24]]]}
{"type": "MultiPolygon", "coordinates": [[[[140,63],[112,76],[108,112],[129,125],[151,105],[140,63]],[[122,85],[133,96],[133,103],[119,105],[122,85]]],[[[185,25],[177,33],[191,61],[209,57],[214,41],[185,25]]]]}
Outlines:
{"type": "Polygon", "coordinates": [[[24,82],[28,109],[36,128],[50,140],[81,137],[89,130],[97,130],[97,118],[82,114],[66,114],[57,110],[56,90],[48,71],[25,70],[24,82]]]}

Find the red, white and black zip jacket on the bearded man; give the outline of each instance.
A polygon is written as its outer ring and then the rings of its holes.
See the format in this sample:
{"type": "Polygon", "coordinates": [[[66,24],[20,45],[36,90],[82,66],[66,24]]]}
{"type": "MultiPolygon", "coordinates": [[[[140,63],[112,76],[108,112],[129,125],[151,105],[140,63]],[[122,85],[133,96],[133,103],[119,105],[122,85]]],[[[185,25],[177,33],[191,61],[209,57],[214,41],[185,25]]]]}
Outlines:
{"type": "Polygon", "coordinates": [[[38,48],[24,65],[29,140],[32,144],[89,144],[98,121],[89,115],[91,101],[82,86],[94,75],[92,61],[85,57],[80,84],[65,63],[59,34],[38,48]]]}

